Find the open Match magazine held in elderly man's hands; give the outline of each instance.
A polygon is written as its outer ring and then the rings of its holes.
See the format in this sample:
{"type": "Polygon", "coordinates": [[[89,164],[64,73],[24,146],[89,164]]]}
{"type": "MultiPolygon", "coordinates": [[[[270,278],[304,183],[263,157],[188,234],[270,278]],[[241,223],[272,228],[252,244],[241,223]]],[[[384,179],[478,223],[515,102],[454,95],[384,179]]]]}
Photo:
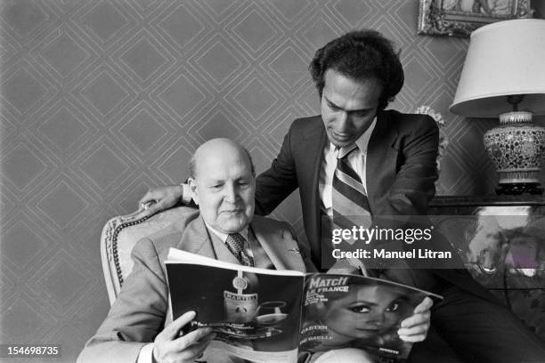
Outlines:
{"type": "Polygon", "coordinates": [[[424,297],[442,298],[378,278],[265,270],[175,248],[166,264],[172,318],[196,311],[190,329],[216,332],[208,349],[253,362],[313,362],[331,354],[403,361],[411,343],[396,333],[401,321],[424,297]]]}

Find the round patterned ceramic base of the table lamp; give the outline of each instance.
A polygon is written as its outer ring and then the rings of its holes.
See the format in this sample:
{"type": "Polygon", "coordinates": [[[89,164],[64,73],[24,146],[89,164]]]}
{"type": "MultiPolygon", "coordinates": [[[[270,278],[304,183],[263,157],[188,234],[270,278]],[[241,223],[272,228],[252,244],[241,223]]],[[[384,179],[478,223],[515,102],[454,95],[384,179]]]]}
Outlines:
{"type": "Polygon", "coordinates": [[[500,126],[484,134],[484,148],[496,166],[499,194],[541,194],[539,174],[545,157],[545,128],[531,112],[500,115],[500,126]]]}

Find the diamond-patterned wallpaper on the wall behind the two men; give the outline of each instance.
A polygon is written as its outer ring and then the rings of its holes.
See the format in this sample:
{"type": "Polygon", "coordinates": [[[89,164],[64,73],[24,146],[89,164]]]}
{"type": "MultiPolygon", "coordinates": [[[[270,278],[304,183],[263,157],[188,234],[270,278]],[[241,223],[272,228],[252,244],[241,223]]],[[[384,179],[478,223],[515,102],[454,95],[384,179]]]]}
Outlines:
{"type": "MultiPolygon", "coordinates": [[[[417,0],[1,1],[0,342],[61,343],[73,361],[109,308],[104,222],[183,180],[216,136],[263,171],[291,121],[319,110],[313,52],[349,29],[403,49],[392,108],[446,119],[440,193],[490,193],[493,121],[448,112],[468,41],[416,36],[417,12],[417,0]]],[[[297,198],[275,216],[302,233],[297,198]]]]}

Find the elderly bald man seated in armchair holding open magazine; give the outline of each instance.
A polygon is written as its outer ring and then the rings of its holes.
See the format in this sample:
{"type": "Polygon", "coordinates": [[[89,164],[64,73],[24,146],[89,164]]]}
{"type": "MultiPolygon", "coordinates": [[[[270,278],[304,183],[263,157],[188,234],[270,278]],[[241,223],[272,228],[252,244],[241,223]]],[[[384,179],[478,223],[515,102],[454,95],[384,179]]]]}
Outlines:
{"type": "MultiPolygon", "coordinates": [[[[206,351],[214,337],[207,328],[179,336],[194,312],[169,321],[164,264],[169,247],[261,268],[315,270],[287,223],[254,215],[254,166],[239,144],[215,139],[201,145],[191,159],[189,186],[199,214],[137,243],[134,270],[78,362],[185,362],[203,352],[210,362],[233,360],[206,351]]],[[[425,338],[430,305],[421,303],[406,319],[404,339],[425,338]]]]}

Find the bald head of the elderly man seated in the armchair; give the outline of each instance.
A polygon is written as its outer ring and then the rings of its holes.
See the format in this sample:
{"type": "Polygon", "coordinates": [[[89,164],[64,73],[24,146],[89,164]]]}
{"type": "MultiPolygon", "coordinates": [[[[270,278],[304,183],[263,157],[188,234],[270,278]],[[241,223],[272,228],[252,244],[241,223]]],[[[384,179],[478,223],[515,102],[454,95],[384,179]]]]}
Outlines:
{"type": "Polygon", "coordinates": [[[192,198],[208,227],[235,233],[254,217],[256,175],[248,151],[229,139],[202,144],[191,158],[192,198]]]}

